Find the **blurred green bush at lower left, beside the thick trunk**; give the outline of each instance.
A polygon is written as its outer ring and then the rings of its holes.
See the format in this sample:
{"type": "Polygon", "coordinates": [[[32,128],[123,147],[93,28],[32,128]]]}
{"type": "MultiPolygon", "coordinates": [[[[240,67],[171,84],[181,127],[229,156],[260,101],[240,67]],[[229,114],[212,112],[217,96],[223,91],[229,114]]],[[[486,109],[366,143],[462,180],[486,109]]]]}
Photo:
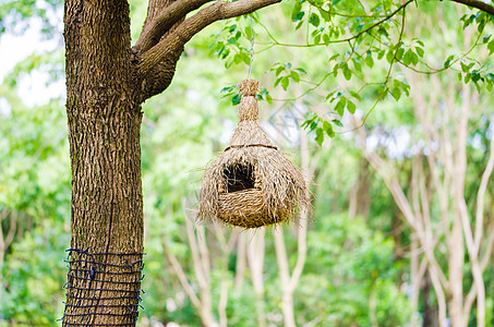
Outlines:
{"type": "MultiPolygon", "coordinates": [[[[63,311],[65,267],[60,261],[70,234],[64,225],[46,220],[17,242],[2,267],[2,319],[52,326],[63,311]]],[[[3,325],[2,325],[3,326],[3,325]]]]}

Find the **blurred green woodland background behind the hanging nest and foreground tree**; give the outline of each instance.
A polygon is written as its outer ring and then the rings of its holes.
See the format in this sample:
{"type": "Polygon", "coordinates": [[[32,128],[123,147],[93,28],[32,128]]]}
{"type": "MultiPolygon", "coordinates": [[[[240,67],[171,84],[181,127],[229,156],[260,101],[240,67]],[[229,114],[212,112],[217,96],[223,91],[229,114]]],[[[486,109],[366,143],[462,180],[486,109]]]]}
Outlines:
{"type": "MultiPolygon", "coordinates": [[[[144,105],[138,325],[494,326],[492,16],[449,2],[309,2],[255,14],[253,28],[248,17],[208,27],[144,105]],[[369,34],[376,44],[330,43],[375,22],[359,10],[409,3],[406,25],[397,15],[369,34]],[[312,175],[314,211],[254,232],[193,226],[202,169],[236,124],[250,33],[263,128],[312,175]]],[[[131,10],[136,39],[146,8],[131,10]]],[[[0,4],[0,41],[37,28],[36,43],[56,45],[19,58],[0,86],[0,326],[52,326],[63,311],[64,96],[26,87],[64,78],[61,15],[59,1],[0,4]]]]}

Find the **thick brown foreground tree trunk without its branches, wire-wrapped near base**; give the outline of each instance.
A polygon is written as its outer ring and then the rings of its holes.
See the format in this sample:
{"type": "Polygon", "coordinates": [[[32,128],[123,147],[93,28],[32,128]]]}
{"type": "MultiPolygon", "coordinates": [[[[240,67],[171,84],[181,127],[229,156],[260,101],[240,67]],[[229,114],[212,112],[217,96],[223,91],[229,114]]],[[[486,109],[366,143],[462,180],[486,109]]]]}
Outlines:
{"type": "Polygon", "coordinates": [[[143,252],[141,106],[126,1],[65,0],[72,241],[63,326],[134,326],[143,252]]]}

